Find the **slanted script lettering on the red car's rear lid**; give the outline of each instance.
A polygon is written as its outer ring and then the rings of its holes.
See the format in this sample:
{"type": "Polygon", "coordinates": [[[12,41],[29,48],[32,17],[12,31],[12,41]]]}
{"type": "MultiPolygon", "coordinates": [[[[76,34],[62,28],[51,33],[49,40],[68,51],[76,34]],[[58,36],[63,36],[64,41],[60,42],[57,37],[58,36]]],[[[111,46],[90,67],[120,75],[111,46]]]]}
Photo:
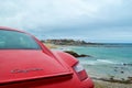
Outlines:
{"type": "Polygon", "coordinates": [[[30,73],[30,72],[38,72],[38,70],[43,70],[43,68],[13,69],[11,70],[11,74],[30,73]]]}

